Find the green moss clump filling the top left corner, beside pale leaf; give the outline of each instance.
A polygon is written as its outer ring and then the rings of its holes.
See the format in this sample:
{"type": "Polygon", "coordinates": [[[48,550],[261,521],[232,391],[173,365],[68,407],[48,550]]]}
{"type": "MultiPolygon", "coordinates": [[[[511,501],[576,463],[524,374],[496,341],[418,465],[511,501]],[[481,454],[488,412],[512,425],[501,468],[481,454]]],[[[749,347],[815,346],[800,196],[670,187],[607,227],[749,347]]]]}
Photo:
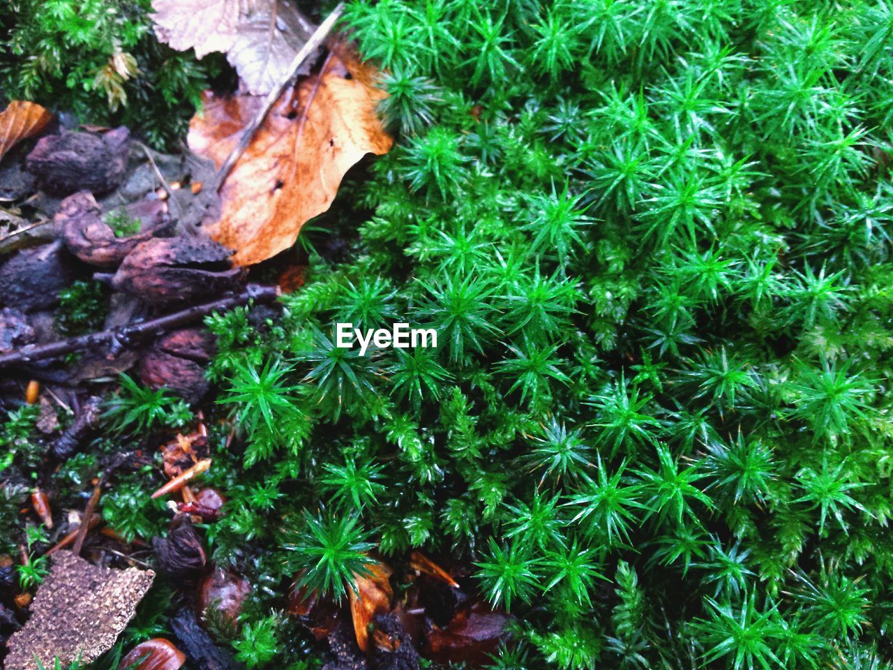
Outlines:
{"type": "Polygon", "coordinates": [[[219,60],[159,45],[150,10],[149,0],[12,0],[0,16],[0,96],[172,143],[219,60]]]}

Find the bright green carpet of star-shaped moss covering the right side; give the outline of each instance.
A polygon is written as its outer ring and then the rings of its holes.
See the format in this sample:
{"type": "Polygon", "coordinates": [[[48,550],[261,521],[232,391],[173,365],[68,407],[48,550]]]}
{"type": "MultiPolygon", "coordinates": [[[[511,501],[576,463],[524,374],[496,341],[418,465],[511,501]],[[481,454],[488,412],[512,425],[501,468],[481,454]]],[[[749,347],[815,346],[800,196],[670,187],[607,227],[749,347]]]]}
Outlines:
{"type": "MultiPolygon", "coordinates": [[[[343,24],[396,147],[302,233],[281,314],[208,320],[238,433],[212,424],[230,502],[205,533],[255,583],[240,660],[313,666],[283,584],[343,594],[374,548],[471,565],[516,617],[494,668],[888,667],[893,6],[385,0],[343,24]],[[439,347],[334,345],[403,321],[439,347]]],[[[189,421],[115,402],[71,491],[189,421]]],[[[23,473],[33,420],[0,433],[23,473]]],[[[102,500],[125,537],[168,519],[144,474],[102,500]]]]}

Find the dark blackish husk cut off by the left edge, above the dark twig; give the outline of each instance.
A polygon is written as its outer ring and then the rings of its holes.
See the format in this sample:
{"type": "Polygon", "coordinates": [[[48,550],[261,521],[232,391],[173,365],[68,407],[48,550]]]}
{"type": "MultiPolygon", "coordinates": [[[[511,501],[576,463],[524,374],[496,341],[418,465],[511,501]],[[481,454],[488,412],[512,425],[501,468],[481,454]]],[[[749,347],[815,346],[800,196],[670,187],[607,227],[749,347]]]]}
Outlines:
{"type": "Polygon", "coordinates": [[[0,267],[0,305],[25,312],[55,306],[73,279],[71,256],[59,242],[24,249],[0,267]]]}

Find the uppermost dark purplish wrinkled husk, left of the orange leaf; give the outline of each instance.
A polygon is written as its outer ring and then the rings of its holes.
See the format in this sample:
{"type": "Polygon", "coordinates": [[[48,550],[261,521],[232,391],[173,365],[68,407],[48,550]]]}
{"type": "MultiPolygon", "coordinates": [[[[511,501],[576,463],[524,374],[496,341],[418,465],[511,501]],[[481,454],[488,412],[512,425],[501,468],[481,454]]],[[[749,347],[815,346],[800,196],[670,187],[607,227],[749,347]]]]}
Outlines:
{"type": "Polygon", "coordinates": [[[117,128],[97,136],[63,132],[40,138],[25,165],[41,188],[67,196],[79,190],[108,193],[121,184],[127,170],[129,130],[117,128]]]}

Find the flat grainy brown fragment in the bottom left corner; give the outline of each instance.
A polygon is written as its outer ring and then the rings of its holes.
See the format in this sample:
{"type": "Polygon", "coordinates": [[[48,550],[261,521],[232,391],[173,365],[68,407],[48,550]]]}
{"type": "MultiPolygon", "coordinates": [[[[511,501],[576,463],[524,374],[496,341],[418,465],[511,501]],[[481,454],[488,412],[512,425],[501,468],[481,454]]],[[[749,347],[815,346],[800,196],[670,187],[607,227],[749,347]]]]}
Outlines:
{"type": "Polygon", "coordinates": [[[53,558],[50,574],[31,604],[28,623],[7,641],[5,670],[37,670],[35,658],[63,666],[87,665],[115,640],[152,585],[154,572],[93,565],[71,551],[53,558]]]}

